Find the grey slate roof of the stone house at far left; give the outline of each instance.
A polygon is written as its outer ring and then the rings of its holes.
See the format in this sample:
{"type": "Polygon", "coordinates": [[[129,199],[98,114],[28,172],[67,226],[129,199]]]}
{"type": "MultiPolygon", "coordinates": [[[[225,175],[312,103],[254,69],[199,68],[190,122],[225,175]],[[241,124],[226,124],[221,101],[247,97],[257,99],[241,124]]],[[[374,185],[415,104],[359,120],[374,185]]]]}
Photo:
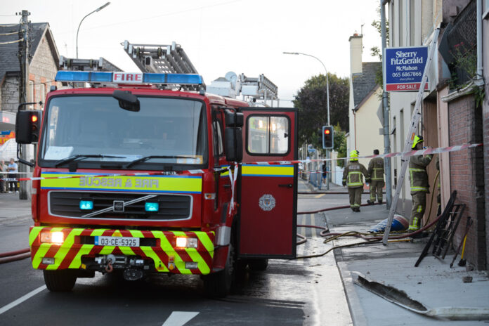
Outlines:
{"type": "MultiPolygon", "coordinates": [[[[20,24],[0,24],[0,34],[6,34],[11,32],[19,32],[20,24]]],[[[48,22],[33,22],[31,24],[31,47],[30,53],[33,55],[36,52],[37,46],[41,41],[41,37],[44,34],[44,30],[49,26],[48,22]]],[[[0,35],[0,43],[8,41],[16,41],[22,37],[19,37],[18,33],[13,35],[0,35]]],[[[0,44],[0,81],[4,79],[6,72],[20,72],[20,64],[18,58],[19,43],[13,44],[0,44]]],[[[32,58],[31,58],[32,60],[32,58]]]]}

